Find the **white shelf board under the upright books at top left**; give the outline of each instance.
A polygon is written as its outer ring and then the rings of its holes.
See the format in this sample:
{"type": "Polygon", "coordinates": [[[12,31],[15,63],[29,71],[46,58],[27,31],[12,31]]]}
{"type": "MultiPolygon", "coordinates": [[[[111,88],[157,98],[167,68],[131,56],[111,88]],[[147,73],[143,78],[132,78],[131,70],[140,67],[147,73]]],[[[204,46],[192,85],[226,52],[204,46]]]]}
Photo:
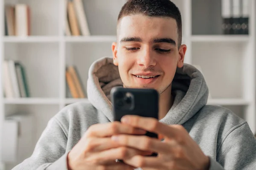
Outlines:
{"type": "Polygon", "coordinates": [[[57,36],[29,36],[29,37],[15,37],[5,36],[4,42],[58,42],[60,39],[57,36]]]}

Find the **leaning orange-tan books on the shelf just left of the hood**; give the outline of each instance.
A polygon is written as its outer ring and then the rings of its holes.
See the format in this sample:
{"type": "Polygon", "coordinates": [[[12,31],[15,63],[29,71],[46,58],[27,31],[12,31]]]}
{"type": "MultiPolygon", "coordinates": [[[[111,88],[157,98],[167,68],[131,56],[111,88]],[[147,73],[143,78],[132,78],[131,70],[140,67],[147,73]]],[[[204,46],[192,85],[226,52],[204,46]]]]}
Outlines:
{"type": "Polygon", "coordinates": [[[85,98],[83,84],[77,71],[73,65],[66,68],[66,83],[68,92],[73,98],[85,98]]]}

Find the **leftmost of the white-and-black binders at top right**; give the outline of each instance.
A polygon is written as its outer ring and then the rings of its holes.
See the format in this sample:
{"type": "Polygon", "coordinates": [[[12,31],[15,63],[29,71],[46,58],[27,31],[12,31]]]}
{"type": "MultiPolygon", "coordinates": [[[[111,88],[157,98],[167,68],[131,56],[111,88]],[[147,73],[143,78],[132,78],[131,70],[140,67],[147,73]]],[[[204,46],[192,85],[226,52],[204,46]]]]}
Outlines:
{"type": "Polygon", "coordinates": [[[223,34],[231,34],[231,1],[230,0],[221,0],[221,17],[222,17],[222,31],[223,34]]]}

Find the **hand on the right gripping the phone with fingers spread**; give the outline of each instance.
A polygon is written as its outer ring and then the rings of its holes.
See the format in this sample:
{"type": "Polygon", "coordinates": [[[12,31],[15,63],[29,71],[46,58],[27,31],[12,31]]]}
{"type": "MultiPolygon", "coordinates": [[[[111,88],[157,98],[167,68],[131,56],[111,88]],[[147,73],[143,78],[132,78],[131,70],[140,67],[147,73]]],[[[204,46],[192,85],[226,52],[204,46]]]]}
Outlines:
{"type": "Polygon", "coordinates": [[[164,125],[157,119],[124,116],[125,125],[145,129],[163,136],[164,141],[148,136],[114,135],[112,140],[122,146],[158,153],[157,157],[136,155],[124,159],[126,164],[143,170],[208,170],[209,157],[181,125],[164,125]]]}

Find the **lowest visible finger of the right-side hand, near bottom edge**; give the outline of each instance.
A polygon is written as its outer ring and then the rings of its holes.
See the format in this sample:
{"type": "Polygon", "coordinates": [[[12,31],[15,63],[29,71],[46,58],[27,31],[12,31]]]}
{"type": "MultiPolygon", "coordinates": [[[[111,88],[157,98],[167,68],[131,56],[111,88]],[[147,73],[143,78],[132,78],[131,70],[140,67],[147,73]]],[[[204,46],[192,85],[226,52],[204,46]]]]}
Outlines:
{"type": "Polygon", "coordinates": [[[131,165],[133,167],[141,167],[143,170],[145,168],[156,168],[156,169],[164,169],[163,168],[163,162],[157,157],[145,157],[145,156],[133,156],[130,159],[124,159],[123,160],[125,164],[131,165]]]}

